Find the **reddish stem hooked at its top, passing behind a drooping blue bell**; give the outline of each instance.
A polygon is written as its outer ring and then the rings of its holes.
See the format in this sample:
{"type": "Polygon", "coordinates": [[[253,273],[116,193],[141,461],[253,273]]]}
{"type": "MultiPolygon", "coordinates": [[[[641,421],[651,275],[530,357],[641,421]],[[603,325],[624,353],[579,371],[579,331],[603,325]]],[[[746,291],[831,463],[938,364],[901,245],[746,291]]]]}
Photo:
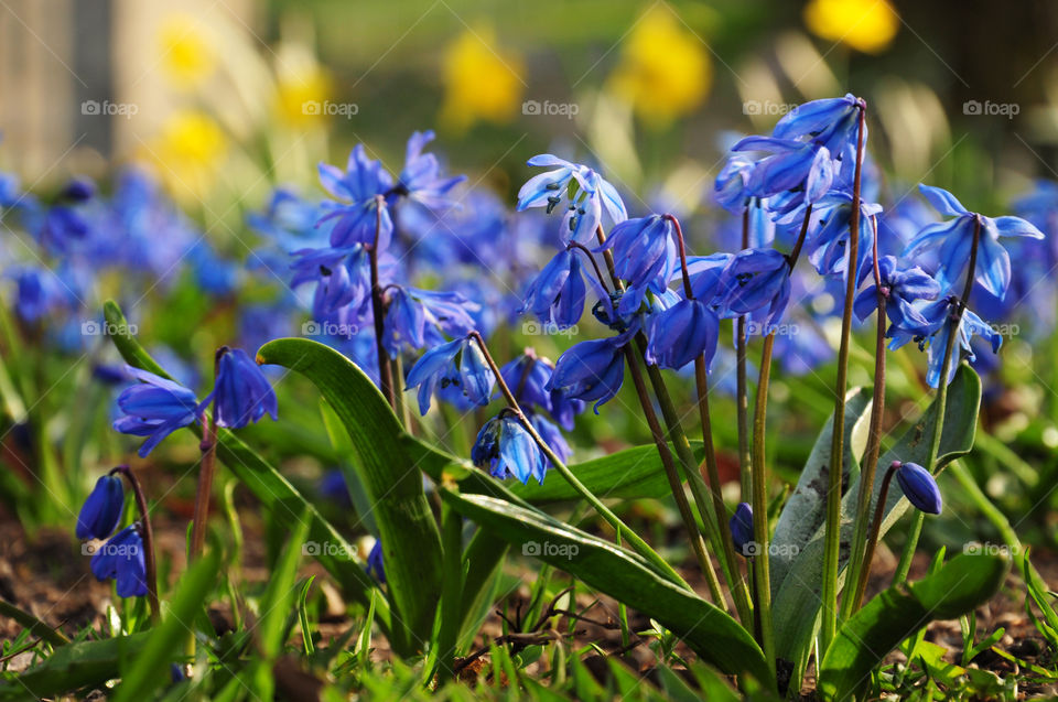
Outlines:
{"type": "MultiPolygon", "coordinates": [[[[687,268],[687,242],[683,239],[683,229],[680,222],[673,215],[666,215],[676,228],[676,239],[680,251],[680,267],[683,272],[683,295],[688,300],[694,299],[694,291],[691,289],[691,277],[687,268]]],[[[721,493],[720,469],[716,466],[716,450],[713,445],[713,426],[709,412],[709,374],[705,370],[705,355],[700,354],[694,359],[694,382],[698,390],[698,415],[702,424],[702,443],[705,449],[705,457],[699,466],[700,473],[708,474],[710,493],[713,498],[713,511],[716,514],[716,526],[720,529],[720,542],[722,546],[721,554],[727,561],[727,568],[724,570],[728,579],[732,596],[738,609],[738,616],[747,623],[752,619],[752,607],[749,606],[748,592],[745,581],[742,577],[742,571],[738,568],[738,561],[735,558],[735,543],[731,538],[731,525],[728,523],[727,506],[724,504],[724,497],[721,493]]]]}

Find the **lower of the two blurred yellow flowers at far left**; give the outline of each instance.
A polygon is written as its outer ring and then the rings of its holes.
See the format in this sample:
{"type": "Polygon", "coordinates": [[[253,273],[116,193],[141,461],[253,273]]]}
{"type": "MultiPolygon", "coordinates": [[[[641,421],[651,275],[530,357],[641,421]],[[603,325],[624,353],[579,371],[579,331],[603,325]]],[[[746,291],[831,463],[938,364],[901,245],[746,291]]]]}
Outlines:
{"type": "Polygon", "coordinates": [[[210,116],[182,110],[165,120],[147,155],[174,195],[202,198],[213,186],[227,149],[227,137],[210,116]]]}

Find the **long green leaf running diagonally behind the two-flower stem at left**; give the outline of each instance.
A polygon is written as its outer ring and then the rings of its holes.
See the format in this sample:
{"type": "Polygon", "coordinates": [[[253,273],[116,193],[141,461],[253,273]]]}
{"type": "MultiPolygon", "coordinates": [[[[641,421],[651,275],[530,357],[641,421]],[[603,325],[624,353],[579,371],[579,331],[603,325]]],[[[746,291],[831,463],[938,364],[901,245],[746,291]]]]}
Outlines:
{"type": "MultiPolygon", "coordinates": [[[[130,327],[117,304],[108,301],[104,305],[104,314],[110,328],[118,330],[117,334],[109,335],[108,338],[114,342],[127,364],[172,379],[128,333],[130,327]]],[[[202,436],[202,428],[197,423],[192,424],[190,429],[199,438],[202,436]]],[[[354,560],[354,547],[279,471],[242,443],[233,432],[223,428],[217,432],[217,457],[253,493],[267,510],[288,518],[291,523],[301,515],[307,515],[310,520],[307,542],[317,547],[312,549],[314,558],[337,581],[346,596],[364,605],[373,602],[370,593],[375,590],[375,581],[364,572],[363,565],[354,560]],[[333,548],[324,549],[320,546],[325,543],[333,544],[333,548]]],[[[379,625],[384,630],[389,631],[389,603],[382,597],[376,600],[376,616],[379,625]]]]}

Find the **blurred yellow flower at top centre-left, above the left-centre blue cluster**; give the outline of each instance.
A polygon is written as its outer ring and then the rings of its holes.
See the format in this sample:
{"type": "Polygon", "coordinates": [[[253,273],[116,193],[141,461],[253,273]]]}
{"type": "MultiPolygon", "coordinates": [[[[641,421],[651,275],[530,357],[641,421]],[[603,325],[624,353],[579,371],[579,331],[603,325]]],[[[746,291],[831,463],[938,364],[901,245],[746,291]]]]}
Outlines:
{"type": "Polygon", "coordinates": [[[463,131],[478,120],[507,122],[521,102],[521,60],[496,47],[490,28],[467,30],[444,52],[441,122],[463,131]]]}

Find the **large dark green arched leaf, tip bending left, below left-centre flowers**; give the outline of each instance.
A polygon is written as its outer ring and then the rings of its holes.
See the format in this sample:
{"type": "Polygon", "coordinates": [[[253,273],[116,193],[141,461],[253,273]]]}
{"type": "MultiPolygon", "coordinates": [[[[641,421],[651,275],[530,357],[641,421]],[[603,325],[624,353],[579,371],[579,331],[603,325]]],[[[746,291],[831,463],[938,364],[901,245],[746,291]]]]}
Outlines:
{"type": "Polygon", "coordinates": [[[398,646],[421,649],[430,639],[441,596],[441,534],[422,474],[401,441],[400,420],[370,378],[328,346],[283,338],[264,344],[257,356],[259,363],[309,378],[345,425],[353,441],[350,464],[371,500],[382,542],[389,593],[407,628],[398,646]]]}

